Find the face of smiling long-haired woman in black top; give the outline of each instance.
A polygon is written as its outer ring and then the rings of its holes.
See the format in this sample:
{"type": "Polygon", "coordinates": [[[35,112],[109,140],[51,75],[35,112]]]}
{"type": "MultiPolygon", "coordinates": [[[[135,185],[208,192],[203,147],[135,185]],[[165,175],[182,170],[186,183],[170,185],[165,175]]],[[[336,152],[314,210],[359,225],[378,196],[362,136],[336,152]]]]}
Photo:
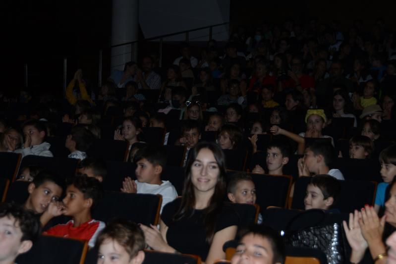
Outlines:
{"type": "Polygon", "coordinates": [[[220,168],[213,152],[201,149],[191,165],[191,183],[195,191],[214,193],[219,180],[220,168]]]}

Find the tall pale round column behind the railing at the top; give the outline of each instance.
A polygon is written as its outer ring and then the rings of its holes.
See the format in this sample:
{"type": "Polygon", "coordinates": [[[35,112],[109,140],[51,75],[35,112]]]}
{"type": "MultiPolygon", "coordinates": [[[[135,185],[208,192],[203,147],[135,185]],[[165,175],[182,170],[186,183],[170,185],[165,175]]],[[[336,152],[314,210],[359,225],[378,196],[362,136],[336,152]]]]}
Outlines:
{"type": "MultiPolygon", "coordinates": [[[[139,0],[113,0],[112,46],[135,41],[139,31],[139,0]]],[[[137,59],[137,45],[134,59],[137,59]]],[[[123,70],[132,60],[131,45],[112,48],[112,70],[123,70]]]]}

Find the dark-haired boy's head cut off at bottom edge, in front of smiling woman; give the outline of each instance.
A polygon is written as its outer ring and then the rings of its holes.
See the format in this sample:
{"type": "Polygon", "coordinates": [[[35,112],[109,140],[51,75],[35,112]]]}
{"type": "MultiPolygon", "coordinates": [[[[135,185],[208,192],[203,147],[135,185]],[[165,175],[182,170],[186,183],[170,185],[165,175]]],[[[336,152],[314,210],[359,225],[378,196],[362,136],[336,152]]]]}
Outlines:
{"type": "Polygon", "coordinates": [[[283,264],[282,237],[270,227],[253,225],[241,235],[231,264],[283,264]]]}

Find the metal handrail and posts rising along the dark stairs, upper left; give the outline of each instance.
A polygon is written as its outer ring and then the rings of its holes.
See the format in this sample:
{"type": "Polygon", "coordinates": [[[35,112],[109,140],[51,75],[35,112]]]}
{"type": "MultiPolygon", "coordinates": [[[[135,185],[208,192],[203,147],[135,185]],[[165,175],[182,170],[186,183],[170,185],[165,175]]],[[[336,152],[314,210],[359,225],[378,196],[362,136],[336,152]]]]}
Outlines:
{"type": "MultiPolygon", "coordinates": [[[[175,32],[175,33],[161,35],[161,36],[121,43],[121,44],[113,45],[113,46],[111,46],[111,48],[131,45],[131,60],[137,61],[137,54],[135,54],[135,51],[137,50],[137,45],[139,42],[159,40],[159,67],[162,67],[162,53],[163,53],[164,38],[185,34],[185,41],[189,42],[190,41],[190,35],[189,35],[190,32],[209,29],[208,35],[199,36],[199,38],[209,37],[208,41],[210,41],[213,39],[213,35],[214,35],[213,28],[218,27],[218,26],[224,26],[227,24],[229,24],[229,22],[221,23],[221,24],[214,24],[214,25],[210,25],[210,26],[206,26],[206,27],[194,28],[194,29],[190,29],[190,30],[179,31],[179,32],[175,32]]],[[[224,33],[224,32],[218,32],[217,34],[221,34],[221,33],[224,33]]],[[[119,55],[124,55],[124,54],[127,54],[127,53],[121,53],[121,54],[117,54],[114,56],[119,56],[119,55]]],[[[115,66],[120,66],[120,65],[115,65],[115,66]]],[[[103,50],[99,51],[98,73],[99,73],[98,85],[99,85],[99,87],[101,87],[102,86],[102,75],[103,75],[103,50]]],[[[25,80],[25,87],[27,87],[28,86],[28,64],[27,63],[24,64],[24,80],[25,80]]],[[[62,83],[63,83],[63,92],[65,92],[66,86],[67,86],[67,57],[63,58],[63,82],[62,83]]]]}

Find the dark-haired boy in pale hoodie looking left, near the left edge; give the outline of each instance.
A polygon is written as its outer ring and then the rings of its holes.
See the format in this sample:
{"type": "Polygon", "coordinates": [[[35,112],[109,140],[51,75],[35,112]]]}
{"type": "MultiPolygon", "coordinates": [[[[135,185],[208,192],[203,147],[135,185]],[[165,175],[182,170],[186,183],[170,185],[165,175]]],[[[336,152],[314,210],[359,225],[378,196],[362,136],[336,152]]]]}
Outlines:
{"type": "Polygon", "coordinates": [[[42,121],[28,120],[22,125],[25,142],[23,149],[16,150],[23,157],[28,155],[54,157],[50,151],[51,144],[46,142],[47,127],[42,121]]]}

